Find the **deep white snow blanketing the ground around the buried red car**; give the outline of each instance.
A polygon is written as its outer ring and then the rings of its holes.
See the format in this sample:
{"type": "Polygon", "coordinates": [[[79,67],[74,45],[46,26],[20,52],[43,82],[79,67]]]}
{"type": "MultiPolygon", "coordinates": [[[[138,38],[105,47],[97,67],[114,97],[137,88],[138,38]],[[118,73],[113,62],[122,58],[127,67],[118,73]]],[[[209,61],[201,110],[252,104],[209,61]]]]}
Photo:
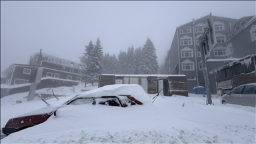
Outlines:
{"type": "MultiPolygon", "coordinates": [[[[141,93],[138,87],[132,87],[128,91],[121,91],[120,85],[100,89],[97,85],[78,85],[75,91],[72,87],[53,88],[55,95],[65,96],[59,101],[47,99],[51,108],[75,95],[102,91],[109,91],[109,95],[133,93],[143,105],[67,105],[58,109],[56,117],[52,115],[45,123],[12,133],[1,143],[255,143],[255,107],[221,105],[220,97],[215,95],[215,105],[206,105],[206,97],[191,93],[189,97],[159,95],[151,103],[156,94],[141,93]]],[[[37,93],[51,91],[40,89],[37,93]]],[[[39,97],[27,101],[27,95],[25,92],[1,98],[1,127],[10,118],[50,108],[39,97]],[[17,100],[23,103],[16,103],[17,100]]]]}

